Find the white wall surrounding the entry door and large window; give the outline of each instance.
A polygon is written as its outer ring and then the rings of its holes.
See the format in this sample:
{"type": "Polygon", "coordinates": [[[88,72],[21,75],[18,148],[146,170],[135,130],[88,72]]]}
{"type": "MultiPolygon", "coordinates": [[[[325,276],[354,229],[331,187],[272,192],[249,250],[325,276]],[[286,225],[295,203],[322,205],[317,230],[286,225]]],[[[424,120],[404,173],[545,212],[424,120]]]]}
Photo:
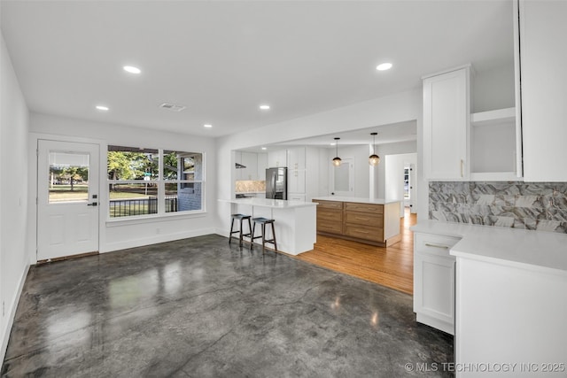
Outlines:
{"type": "MultiPolygon", "coordinates": [[[[156,127],[157,128],[157,127],[156,127]]],[[[162,243],[185,237],[214,233],[216,207],[216,154],[213,138],[179,135],[122,125],[73,120],[63,117],[32,113],[29,138],[29,180],[35,188],[36,165],[35,148],[37,139],[45,137],[58,140],[89,142],[100,144],[101,151],[101,189],[100,195],[100,245],[99,251],[116,251],[151,243],[162,243]],[[188,150],[205,154],[205,209],[199,214],[178,213],[173,217],[160,217],[138,220],[107,220],[108,189],[105,185],[106,150],[109,144],[139,146],[144,148],[164,148],[188,150]],[[158,229],[159,228],[159,229],[158,229]]],[[[35,261],[35,190],[29,195],[30,212],[28,222],[29,253],[35,261]]]]}

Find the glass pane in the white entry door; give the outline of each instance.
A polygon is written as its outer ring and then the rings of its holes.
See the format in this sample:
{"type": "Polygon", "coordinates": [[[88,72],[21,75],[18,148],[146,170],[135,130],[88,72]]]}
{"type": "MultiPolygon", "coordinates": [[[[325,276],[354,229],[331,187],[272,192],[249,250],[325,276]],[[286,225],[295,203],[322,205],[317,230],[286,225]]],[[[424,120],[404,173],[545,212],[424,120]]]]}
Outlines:
{"type": "Polygon", "coordinates": [[[89,200],[89,154],[50,151],[49,203],[89,200]]]}

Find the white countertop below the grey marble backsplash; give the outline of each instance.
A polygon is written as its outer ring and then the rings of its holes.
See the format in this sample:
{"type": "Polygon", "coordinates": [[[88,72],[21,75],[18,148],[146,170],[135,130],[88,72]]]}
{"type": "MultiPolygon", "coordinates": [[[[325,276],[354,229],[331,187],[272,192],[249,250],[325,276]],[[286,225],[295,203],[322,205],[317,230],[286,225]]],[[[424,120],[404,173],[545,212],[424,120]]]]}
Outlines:
{"type": "Polygon", "coordinates": [[[412,231],[462,238],[450,253],[508,266],[567,275],[567,234],[420,220],[412,231]]]}

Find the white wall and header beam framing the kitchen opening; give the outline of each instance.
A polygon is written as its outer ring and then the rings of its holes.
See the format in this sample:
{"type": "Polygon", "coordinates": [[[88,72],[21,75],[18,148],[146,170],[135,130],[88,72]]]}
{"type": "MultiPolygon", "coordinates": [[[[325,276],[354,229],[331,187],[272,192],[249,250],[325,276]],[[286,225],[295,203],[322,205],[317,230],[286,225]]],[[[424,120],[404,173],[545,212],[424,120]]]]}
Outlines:
{"type": "MultiPolygon", "coordinates": [[[[232,195],[231,150],[408,120],[421,120],[421,118],[422,92],[414,90],[219,138],[217,140],[217,197],[230,198],[232,195]]],[[[218,205],[220,223],[217,232],[221,235],[228,234],[229,213],[230,204],[218,205]]]]}

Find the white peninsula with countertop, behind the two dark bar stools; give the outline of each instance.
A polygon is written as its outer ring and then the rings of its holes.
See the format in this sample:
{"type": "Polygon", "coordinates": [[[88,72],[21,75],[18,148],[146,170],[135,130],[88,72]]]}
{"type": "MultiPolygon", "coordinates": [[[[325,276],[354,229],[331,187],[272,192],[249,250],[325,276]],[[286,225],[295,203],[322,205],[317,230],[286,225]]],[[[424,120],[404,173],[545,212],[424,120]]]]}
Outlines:
{"type": "MultiPolygon", "coordinates": [[[[316,203],[268,198],[219,199],[231,204],[231,213],[276,220],[277,250],[290,255],[313,250],[316,241],[316,203]]],[[[246,226],[245,226],[246,229],[246,226]]]]}

